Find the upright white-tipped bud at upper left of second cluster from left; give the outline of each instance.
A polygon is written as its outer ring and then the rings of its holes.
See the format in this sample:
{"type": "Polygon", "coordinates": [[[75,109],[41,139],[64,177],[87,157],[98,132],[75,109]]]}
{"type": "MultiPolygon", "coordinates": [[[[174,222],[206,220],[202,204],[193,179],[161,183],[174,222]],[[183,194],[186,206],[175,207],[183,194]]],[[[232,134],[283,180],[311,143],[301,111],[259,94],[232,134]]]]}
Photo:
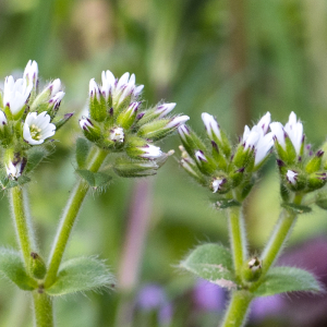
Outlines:
{"type": "Polygon", "coordinates": [[[97,122],[107,117],[106,100],[94,78],[89,81],[89,117],[97,122]]]}

